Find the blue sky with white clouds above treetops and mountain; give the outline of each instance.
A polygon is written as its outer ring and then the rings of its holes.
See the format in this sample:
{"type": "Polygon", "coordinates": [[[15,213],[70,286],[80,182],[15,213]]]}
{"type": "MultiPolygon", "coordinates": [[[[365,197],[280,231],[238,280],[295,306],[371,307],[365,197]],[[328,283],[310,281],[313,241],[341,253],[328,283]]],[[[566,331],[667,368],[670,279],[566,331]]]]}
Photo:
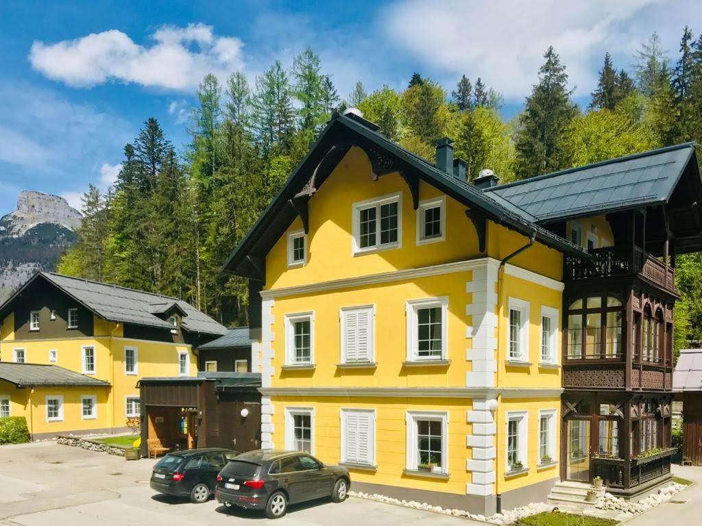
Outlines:
{"type": "Polygon", "coordinates": [[[555,46],[587,104],[602,56],[629,67],[657,31],[675,58],[693,0],[130,1],[0,3],[0,215],[22,189],[69,202],[106,188],[124,144],[155,116],[178,146],[206,72],[251,80],[307,45],[340,95],[406,85],[413,71],[451,90],[461,74],[503,93],[508,116],[555,46]]]}

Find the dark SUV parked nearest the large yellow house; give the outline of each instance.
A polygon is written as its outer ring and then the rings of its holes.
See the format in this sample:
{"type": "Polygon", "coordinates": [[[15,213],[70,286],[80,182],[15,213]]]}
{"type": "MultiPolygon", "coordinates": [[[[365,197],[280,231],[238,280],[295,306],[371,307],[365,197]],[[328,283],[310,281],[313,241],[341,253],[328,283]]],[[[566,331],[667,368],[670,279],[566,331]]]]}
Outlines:
{"type": "Polygon", "coordinates": [[[329,498],[343,501],[351,478],[342,466],[325,466],[310,454],[256,450],[232,459],[217,476],[215,498],[225,506],[285,515],[288,504],[329,498]]]}

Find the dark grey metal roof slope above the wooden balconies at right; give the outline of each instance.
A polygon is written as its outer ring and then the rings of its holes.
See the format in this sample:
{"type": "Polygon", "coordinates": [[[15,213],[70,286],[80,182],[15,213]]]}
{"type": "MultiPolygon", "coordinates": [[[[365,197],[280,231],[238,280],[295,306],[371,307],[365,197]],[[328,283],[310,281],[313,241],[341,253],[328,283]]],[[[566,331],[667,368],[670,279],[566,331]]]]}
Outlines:
{"type": "Polygon", "coordinates": [[[545,223],[668,201],[694,155],[677,144],[486,189],[545,223]]]}

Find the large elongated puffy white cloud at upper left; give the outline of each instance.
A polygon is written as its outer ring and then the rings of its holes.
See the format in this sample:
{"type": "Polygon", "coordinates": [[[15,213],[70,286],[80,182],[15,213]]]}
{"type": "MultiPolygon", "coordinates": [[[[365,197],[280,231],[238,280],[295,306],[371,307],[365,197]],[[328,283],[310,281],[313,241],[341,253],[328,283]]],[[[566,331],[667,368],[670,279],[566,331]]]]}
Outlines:
{"type": "Polygon", "coordinates": [[[141,46],[110,29],[58,43],[34,41],[29,62],[69,86],[121,81],[168,90],[192,90],[208,73],[224,77],[243,65],[241,40],[217,36],[208,25],[164,26],[152,39],[151,46],[141,46]]]}

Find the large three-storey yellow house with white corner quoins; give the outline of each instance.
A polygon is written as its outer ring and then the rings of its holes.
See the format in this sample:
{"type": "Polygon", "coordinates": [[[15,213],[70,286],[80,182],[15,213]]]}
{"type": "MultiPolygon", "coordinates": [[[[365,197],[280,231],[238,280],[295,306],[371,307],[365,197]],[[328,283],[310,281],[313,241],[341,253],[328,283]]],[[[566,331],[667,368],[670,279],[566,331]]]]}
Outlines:
{"type": "Polygon", "coordinates": [[[263,373],[263,447],[357,490],[494,513],[559,478],[564,253],[585,255],[377,126],[334,116],[234,250],[263,373]]]}

